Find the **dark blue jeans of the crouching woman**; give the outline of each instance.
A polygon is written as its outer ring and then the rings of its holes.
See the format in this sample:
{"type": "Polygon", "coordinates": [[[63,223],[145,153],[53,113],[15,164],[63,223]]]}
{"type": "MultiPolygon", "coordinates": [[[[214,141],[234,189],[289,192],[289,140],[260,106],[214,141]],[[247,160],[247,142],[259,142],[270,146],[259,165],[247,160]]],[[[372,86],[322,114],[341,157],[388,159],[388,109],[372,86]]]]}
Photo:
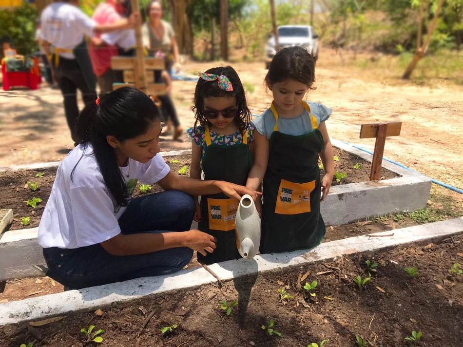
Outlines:
{"type": "MultiPolygon", "coordinates": [[[[195,205],[190,195],[177,191],[133,199],[119,218],[123,234],[190,230],[195,205]]],[[[43,249],[47,275],[72,289],[99,286],[181,270],[193,257],[188,247],[139,255],[116,256],[100,245],[43,249]]]]}

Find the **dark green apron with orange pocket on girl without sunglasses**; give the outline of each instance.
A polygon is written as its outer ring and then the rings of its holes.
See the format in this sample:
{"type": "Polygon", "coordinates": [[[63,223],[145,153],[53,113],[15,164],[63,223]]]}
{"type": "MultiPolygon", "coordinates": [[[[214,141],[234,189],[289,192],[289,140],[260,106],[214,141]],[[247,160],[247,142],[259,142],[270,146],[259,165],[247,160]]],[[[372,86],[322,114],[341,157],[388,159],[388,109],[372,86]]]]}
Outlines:
{"type": "Polygon", "coordinates": [[[318,168],[323,136],[309,105],[302,105],[309,111],[314,130],[300,136],[278,131],[278,113],[271,105],[276,124],[270,136],[269,164],[263,183],[261,253],[309,249],[325,236],[318,168]]]}

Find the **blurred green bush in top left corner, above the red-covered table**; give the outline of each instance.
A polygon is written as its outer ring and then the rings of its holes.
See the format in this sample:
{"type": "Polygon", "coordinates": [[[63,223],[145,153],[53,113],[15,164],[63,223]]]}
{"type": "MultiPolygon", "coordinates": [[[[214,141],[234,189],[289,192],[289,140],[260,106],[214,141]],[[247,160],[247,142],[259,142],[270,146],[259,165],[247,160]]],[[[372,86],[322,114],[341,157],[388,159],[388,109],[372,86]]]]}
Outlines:
{"type": "MultiPolygon", "coordinates": [[[[36,6],[24,1],[13,10],[0,9],[0,37],[8,35],[18,54],[28,55],[39,50],[35,40],[35,21],[39,17],[36,6]]],[[[2,54],[3,52],[1,52],[2,54]]]]}

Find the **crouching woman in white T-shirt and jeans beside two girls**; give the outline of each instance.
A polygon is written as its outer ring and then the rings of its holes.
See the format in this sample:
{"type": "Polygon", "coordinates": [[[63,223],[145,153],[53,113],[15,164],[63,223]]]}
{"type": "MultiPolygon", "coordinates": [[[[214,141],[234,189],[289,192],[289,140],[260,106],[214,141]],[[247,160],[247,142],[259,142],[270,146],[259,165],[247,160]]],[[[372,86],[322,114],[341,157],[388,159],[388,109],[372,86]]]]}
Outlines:
{"type": "Polygon", "coordinates": [[[133,88],[84,109],[79,145],[58,167],[39,225],[47,275],[79,289],[172,273],[188,264],[193,250],[214,250],[211,235],[189,230],[190,195],[257,193],[172,173],[158,155],[160,132],[153,101],[133,88]],[[131,200],[138,180],[157,182],[165,192],[131,200]]]}

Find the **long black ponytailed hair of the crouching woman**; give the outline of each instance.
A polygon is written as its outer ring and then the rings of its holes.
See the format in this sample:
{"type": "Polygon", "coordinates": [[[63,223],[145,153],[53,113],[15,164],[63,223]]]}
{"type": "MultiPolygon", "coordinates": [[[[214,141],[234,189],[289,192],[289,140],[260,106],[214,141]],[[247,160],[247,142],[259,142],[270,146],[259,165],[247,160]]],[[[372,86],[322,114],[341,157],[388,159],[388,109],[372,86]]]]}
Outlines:
{"type": "MultiPolygon", "coordinates": [[[[158,119],[159,111],[154,102],[146,94],[129,87],[119,88],[102,97],[99,105],[87,105],[77,119],[77,142],[84,146],[92,144],[104,183],[119,206],[127,206],[129,196],[115,150],[106,136],[113,135],[119,142],[124,142],[145,134],[151,123],[158,119]]],[[[71,172],[71,179],[76,166],[71,172]]]]}

